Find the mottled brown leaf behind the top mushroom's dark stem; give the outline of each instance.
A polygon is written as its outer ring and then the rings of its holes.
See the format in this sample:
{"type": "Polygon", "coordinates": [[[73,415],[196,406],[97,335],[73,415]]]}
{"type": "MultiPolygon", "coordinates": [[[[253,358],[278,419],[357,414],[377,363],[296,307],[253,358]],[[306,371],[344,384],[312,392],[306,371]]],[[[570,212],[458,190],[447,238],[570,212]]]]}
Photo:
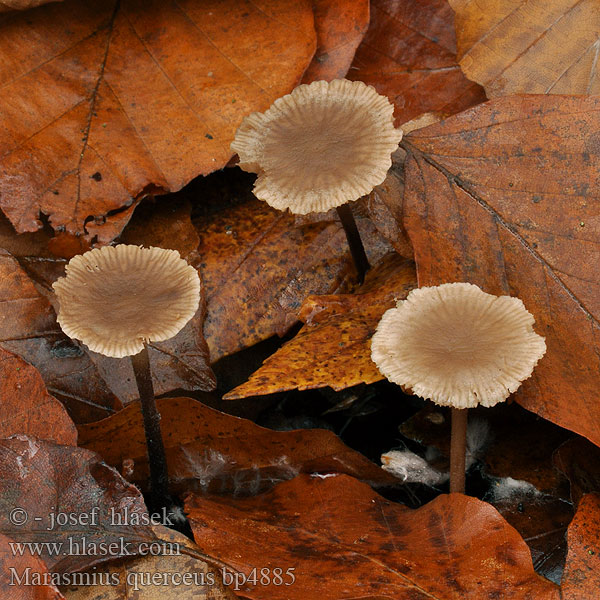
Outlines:
{"type": "MultiPolygon", "coordinates": [[[[389,244],[357,214],[372,263],[389,244]]],[[[355,279],[344,231],[331,213],[296,220],[260,200],[196,219],[207,298],[204,335],[212,362],[283,335],[309,294],[346,290],[355,279]]]]}

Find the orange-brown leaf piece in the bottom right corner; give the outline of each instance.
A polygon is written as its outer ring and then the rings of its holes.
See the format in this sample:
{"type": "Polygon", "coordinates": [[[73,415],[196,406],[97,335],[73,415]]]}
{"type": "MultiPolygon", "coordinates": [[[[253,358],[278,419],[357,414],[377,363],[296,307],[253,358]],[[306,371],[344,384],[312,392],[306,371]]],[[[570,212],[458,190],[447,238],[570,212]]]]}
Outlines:
{"type": "Polygon", "coordinates": [[[569,525],[563,600],[596,600],[600,590],[600,495],[586,494],[569,525]]]}

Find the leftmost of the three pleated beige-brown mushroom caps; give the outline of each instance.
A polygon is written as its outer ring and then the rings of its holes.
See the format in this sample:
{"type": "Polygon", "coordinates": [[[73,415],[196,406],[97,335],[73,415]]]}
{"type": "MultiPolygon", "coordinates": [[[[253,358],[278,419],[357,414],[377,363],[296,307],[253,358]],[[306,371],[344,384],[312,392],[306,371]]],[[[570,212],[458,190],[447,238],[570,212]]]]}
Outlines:
{"type": "Polygon", "coordinates": [[[176,335],[200,302],[200,278],[176,250],[121,244],[72,258],[52,286],[58,322],[90,350],[121,358],[176,335]]]}

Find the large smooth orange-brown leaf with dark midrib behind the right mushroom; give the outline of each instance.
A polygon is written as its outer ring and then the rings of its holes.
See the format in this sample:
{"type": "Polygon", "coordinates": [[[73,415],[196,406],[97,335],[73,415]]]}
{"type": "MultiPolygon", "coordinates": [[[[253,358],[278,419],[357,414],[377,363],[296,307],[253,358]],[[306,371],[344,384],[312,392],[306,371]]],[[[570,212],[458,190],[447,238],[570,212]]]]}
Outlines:
{"type": "Polygon", "coordinates": [[[402,142],[419,285],[469,281],[521,298],[548,351],[515,398],[596,444],[599,108],[500,98],[402,142]]]}

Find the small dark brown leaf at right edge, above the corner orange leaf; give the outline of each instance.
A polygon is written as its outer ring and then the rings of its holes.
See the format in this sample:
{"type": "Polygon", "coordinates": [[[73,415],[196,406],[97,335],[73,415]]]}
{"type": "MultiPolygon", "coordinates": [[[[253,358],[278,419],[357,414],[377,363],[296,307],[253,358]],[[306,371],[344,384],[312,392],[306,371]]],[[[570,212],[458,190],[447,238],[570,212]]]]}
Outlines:
{"type": "Polygon", "coordinates": [[[581,497],[590,492],[600,492],[600,448],[576,437],[556,450],[554,466],[569,479],[571,500],[575,506],[581,497]]]}

